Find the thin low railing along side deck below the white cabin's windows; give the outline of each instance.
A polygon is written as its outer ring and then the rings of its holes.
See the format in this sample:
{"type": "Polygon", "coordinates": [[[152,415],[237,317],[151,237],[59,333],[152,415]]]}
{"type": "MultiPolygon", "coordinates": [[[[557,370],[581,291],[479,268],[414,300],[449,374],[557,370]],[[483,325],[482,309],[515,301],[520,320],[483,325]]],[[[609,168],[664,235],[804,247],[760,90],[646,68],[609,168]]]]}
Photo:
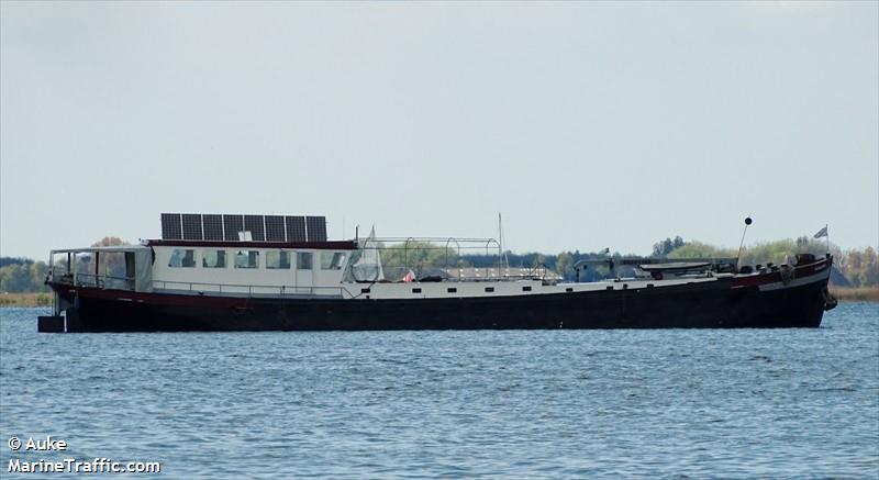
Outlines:
{"type": "Polygon", "coordinates": [[[205,283],[171,280],[153,280],[153,289],[188,292],[194,295],[203,295],[205,293],[246,297],[344,297],[345,293],[351,295],[351,292],[345,287],[205,283]]]}

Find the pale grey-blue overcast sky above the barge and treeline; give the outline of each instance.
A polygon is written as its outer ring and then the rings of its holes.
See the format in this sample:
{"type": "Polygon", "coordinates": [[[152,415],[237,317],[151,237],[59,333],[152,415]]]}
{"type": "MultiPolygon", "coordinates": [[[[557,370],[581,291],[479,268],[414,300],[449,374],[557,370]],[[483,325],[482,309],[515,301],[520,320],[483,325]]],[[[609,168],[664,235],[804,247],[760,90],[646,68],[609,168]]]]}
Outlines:
{"type": "Polygon", "coordinates": [[[877,4],[3,1],[0,254],[160,212],[876,246],[877,4]]]}

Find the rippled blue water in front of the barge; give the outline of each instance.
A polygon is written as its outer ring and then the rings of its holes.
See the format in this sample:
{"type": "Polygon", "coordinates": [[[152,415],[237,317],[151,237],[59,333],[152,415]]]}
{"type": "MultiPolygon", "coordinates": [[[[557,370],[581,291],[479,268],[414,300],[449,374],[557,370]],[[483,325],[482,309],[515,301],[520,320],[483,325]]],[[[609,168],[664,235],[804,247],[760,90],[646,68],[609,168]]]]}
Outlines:
{"type": "Polygon", "coordinates": [[[11,457],[168,478],[879,477],[877,303],[771,331],[57,335],[41,312],[0,309],[3,478],[11,457]],[[69,450],[7,446],[45,435],[69,450]]]}

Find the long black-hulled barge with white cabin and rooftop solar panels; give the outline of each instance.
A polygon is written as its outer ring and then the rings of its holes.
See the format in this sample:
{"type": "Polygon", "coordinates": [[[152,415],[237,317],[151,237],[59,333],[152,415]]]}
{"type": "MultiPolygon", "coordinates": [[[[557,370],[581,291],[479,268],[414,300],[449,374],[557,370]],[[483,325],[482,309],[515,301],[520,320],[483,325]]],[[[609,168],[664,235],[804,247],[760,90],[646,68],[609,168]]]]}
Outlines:
{"type": "Polygon", "coordinates": [[[566,281],[510,266],[491,238],[331,241],[325,217],[307,215],[160,220],[162,237],[137,245],[52,250],[38,331],[819,327],[836,305],[830,254],[755,266],[609,256],[566,281]],[[494,259],[468,264],[468,246],[494,259]],[[589,268],[609,275],[580,281],[589,268]]]}

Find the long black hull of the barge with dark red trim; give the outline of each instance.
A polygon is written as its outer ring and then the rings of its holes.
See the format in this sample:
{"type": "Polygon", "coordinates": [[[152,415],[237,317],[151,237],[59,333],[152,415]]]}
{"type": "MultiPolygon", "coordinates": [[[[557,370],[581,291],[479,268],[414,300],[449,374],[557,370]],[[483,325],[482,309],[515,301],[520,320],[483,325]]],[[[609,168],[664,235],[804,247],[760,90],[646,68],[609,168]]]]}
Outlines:
{"type": "Polygon", "coordinates": [[[499,298],[316,300],[56,288],[67,332],[817,327],[826,278],[763,291],[733,279],[499,298]]]}

